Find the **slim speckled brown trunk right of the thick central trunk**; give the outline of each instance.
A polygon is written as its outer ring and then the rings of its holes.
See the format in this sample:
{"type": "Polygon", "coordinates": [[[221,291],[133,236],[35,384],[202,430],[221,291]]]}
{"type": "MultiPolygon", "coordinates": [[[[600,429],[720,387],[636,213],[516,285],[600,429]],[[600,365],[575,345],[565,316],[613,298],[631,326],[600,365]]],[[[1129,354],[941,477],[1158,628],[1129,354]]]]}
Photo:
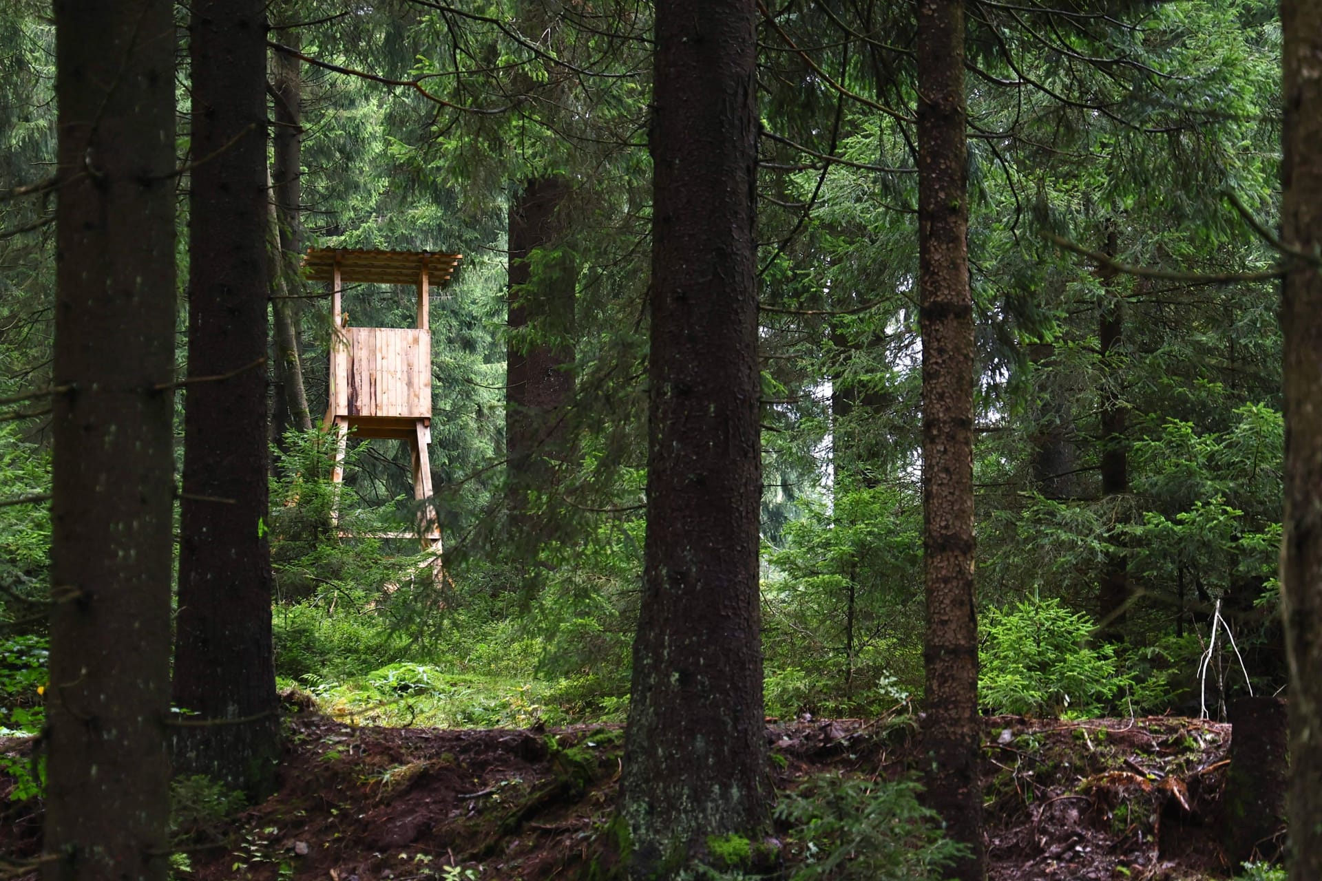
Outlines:
{"type": "Polygon", "coordinates": [[[964,4],[917,4],[919,296],[927,580],[927,802],[981,881],[978,650],[973,605],[973,301],[968,263],[964,4]]]}

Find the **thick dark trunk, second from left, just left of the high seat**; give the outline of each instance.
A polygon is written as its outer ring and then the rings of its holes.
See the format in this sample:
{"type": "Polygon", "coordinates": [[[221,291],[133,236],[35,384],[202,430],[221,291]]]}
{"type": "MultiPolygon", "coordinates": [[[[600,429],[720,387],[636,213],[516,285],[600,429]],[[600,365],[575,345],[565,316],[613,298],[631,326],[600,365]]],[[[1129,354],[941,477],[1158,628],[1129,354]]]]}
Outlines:
{"type": "Polygon", "coordinates": [[[194,0],[173,738],[177,771],[253,795],[279,754],[267,516],[266,22],[263,0],[194,0]],[[206,380],[221,376],[221,380],[206,380]],[[225,499],[218,501],[218,499],[225,499]]]}

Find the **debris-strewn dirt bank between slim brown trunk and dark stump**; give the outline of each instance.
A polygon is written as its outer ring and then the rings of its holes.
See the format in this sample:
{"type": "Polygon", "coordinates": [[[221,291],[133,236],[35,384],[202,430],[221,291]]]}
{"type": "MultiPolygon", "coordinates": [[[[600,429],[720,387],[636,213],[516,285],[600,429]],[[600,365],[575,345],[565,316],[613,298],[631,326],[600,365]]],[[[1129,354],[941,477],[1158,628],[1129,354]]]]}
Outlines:
{"type": "Polygon", "coordinates": [[[1229,725],[1153,717],[989,719],[992,877],[1225,877],[1220,794],[1229,725]]]}

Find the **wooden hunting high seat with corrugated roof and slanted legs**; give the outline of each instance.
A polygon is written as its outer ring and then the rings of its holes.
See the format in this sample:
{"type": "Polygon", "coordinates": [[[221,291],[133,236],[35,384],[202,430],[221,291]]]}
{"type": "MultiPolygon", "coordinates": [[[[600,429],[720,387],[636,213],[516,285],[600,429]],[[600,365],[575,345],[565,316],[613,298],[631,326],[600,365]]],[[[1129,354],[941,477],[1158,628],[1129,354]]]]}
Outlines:
{"type": "MultiPolygon", "coordinates": [[[[332,284],[330,394],[325,427],[337,435],[334,482],[344,481],[344,454],[358,437],[407,440],[412,449],[414,498],[431,498],[431,328],[430,287],[444,287],[461,260],[435,251],[353,251],[308,248],[303,273],[332,284]],[[418,288],[416,328],[348,328],[341,296],[345,283],[408,284],[418,288]]],[[[440,530],[430,506],[419,520],[423,547],[440,551],[440,530]]],[[[406,538],[390,535],[382,538],[406,538]]],[[[407,538],[411,538],[408,535],[407,538]]]]}

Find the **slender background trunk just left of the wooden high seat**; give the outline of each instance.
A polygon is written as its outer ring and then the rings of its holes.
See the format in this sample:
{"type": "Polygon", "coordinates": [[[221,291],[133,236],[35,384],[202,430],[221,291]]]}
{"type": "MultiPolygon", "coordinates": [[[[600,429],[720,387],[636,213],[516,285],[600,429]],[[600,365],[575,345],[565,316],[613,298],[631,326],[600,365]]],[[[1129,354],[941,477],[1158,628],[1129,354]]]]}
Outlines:
{"type": "MultiPolygon", "coordinates": [[[[282,5],[282,24],[295,18],[295,5],[282,5]]],[[[297,29],[284,32],[284,44],[299,49],[301,37],[297,29]]],[[[275,128],[271,151],[271,197],[275,202],[275,222],[280,243],[278,284],[272,289],[280,295],[272,300],[275,317],[276,375],[284,390],[284,402],[293,427],[299,431],[312,431],[312,412],[308,408],[308,392],[303,384],[303,362],[299,359],[297,300],[290,297],[299,293],[297,264],[303,252],[303,222],[300,218],[301,173],[303,173],[303,81],[299,59],[283,52],[274,53],[275,69],[274,112],[275,128]]],[[[279,421],[284,412],[279,413],[279,421]]],[[[283,432],[280,432],[283,435],[283,432]]]]}

